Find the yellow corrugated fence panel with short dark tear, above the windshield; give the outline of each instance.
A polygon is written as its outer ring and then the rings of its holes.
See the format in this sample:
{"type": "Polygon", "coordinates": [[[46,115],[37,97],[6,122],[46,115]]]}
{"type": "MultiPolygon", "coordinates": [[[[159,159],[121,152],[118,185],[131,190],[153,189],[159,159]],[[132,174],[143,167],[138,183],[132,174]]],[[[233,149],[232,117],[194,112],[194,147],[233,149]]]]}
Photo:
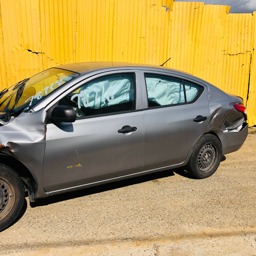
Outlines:
{"type": "Polygon", "coordinates": [[[34,0],[0,1],[8,86],[43,70],[39,4],[34,0]]]}

